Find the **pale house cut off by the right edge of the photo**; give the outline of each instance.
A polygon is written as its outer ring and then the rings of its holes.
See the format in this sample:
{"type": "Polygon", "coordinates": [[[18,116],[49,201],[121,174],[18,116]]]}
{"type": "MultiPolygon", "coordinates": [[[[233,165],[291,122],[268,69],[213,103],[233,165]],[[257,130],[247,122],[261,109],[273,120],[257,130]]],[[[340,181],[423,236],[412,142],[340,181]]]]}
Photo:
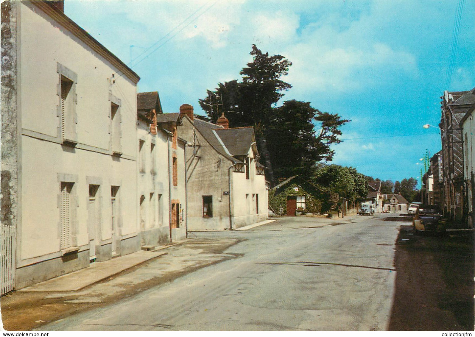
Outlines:
{"type": "Polygon", "coordinates": [[[465,97],[466,103],[472,103],[460,121],[464,148],[464,184],[466,191],[467,227],[475,228],[475,89],[465,97]]]}

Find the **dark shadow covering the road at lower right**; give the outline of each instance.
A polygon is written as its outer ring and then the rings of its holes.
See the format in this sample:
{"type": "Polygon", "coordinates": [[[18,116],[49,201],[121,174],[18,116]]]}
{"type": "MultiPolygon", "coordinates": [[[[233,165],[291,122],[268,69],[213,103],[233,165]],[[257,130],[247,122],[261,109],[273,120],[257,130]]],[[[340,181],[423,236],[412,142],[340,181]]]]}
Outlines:
{"type": "Polygon", "coordinates": [[[474,262],[473,236],[416,236],[401,225],[388,330],[474,331],[474,262]]]}

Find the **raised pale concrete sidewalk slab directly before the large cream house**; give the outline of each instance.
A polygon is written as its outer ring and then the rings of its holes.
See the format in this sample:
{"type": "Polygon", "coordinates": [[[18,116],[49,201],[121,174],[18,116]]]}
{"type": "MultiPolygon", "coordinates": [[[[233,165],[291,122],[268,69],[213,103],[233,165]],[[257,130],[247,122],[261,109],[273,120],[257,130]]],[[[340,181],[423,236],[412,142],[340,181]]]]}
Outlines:
{"type": "Polygon", "coordinates": [[[115,274],[149,261],[161,255],[164,251],[138,251],[132,254],[116,257],[104,262],[94,262],[89,267],[66,275],[55,277],[18,291],[76,291],[91,284],[105,280],[115,274]]]}

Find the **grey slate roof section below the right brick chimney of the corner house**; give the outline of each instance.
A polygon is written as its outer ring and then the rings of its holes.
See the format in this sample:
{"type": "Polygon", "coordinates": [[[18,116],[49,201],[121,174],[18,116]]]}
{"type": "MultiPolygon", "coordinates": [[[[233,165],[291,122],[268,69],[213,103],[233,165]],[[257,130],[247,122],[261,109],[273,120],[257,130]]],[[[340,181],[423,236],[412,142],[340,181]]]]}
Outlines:
{"type": "Polygon", "coordinates": [[[233,156],[247,156],[250,147],[255,143],[254,128],[217,129],[219,138],[222,140],[229,153],[233,156]]]}

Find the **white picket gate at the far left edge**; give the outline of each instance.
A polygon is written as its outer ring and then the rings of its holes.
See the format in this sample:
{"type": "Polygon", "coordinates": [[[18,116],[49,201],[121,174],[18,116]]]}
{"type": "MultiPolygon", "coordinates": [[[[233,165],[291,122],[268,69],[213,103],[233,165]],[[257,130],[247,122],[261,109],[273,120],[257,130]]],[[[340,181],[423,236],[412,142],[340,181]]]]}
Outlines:
{"type": "Polygon", "coordinates": [[[15,287],[15,238],[14,226],[0,225],[0,295],[15,287]]]}

